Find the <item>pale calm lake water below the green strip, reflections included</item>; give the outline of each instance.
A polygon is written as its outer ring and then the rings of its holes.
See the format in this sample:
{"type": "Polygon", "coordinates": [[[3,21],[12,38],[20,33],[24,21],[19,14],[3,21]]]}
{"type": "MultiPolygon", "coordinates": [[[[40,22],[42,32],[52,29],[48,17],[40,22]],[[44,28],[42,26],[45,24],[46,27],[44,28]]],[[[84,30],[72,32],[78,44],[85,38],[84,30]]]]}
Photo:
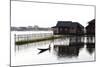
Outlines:
{"type": "Polygon", "coordinates": [[[12,66],[95,60],[95,37],[93,36],[65,36],[20,46],[12,44],[12,66]]]}

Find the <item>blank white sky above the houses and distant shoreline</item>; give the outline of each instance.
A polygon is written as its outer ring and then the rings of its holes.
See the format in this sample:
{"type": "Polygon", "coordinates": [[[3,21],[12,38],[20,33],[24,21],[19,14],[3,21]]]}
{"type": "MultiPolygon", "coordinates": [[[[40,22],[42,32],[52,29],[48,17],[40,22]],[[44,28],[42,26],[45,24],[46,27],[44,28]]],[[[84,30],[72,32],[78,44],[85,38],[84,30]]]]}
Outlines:
{"type": "Polygon", "coordinates": [[[87,26],[94,16],[93,6],[11,2],[11,26],[16,27],[53,27],[57,21],[73,21],[87,26]]]}

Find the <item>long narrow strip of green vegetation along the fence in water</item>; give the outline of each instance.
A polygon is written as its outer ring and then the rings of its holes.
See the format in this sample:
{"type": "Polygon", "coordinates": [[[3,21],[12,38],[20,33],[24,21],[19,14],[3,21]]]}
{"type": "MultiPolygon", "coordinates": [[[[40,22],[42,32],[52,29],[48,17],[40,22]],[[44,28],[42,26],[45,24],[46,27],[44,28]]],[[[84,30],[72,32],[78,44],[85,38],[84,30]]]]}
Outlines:
{"type": "Polygon", "coordinates": [[[40,42],[40,41],[45,41],[45,40],[53,40],[53,39],[62,38],[62,37],[63,36],[51,36],[51,37],[47,37],[47,38],[34,39],[34,40],[22,40],[22,41],[16,41],[15,44],[16,45],[24,45],[27,43],[40,42]]]}

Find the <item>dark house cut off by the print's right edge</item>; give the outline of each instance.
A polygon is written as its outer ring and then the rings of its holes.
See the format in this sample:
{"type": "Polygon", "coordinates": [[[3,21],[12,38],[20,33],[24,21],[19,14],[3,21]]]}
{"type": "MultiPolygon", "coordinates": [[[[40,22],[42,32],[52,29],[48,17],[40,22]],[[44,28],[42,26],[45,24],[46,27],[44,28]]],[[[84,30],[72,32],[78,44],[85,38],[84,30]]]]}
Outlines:
{"type": "Polygon", "coordinates": [[[95,19],[88,22],[88,25],[86,26],[86,33],[87,34],[95,34],[95,19]]]}

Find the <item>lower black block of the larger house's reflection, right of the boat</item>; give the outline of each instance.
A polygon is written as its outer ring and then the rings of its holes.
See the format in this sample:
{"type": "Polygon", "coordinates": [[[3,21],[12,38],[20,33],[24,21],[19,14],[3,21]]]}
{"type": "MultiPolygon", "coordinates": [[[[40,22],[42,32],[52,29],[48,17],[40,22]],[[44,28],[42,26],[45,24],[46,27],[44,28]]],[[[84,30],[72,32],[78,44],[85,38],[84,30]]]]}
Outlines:
{"type": "Polygon", "coordinates": [[[59,57],[77,57],[79,47],[67,45],[54,45],[54,50],[59,57]]]}

